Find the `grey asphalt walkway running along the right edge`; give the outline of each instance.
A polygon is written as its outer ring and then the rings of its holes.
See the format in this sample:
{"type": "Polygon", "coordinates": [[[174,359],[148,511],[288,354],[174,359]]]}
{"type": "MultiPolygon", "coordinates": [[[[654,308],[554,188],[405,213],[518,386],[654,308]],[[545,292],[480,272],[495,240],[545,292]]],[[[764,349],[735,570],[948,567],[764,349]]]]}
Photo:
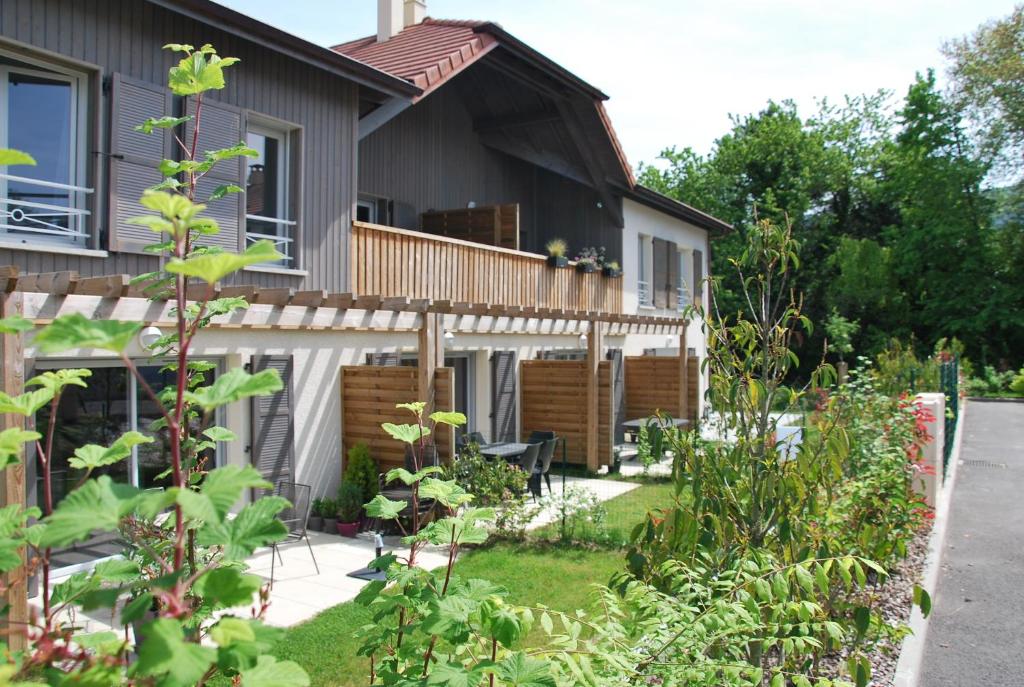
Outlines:
{"type": "Polygon", "coordinates": [[[920,687],[1024,685],[1024,403],[971,402],[920,687]]]}

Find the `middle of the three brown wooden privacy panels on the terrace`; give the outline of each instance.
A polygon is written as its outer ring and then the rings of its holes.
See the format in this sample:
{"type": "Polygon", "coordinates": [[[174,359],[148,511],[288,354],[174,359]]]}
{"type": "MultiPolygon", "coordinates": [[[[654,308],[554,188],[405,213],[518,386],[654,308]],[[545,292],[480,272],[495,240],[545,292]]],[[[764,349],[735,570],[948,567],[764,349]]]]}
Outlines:
{"type": "MultiPolygon", "coordinates": [[[[601,466],[612,462],[611,362],[602,360],[597,372],[597,445],[601,466]]],[[[568,462],[586,465],[587,361],[523,360],[519,375],[523,439],[534,431],[552,431],[565,439],[568,462]]],[[[561,460],[560,453],[555,460],[561,460]]]]}

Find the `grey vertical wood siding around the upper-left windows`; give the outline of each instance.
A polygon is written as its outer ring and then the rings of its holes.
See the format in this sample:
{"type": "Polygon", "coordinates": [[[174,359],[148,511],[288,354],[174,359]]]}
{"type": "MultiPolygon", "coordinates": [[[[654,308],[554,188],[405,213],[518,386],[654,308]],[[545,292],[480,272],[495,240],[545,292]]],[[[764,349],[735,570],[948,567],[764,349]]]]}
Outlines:
{"type": "MultiPolygon", "coordinates": [[[[227,88],[214,97],[302,127],[300,266],[309,275],[300,278],[244,272],[237,281],[266,287],[346,290],[346,247],[355,192],[354,84],[143,0],[3,0],[0,44],[4,39],[95,65],[103,79],[119,73],[158,85],[166,83],[174,59],[161,50],[165,43],[212,43],[221,54],[241,57],[242,62],[228,73],[227,88]]],[[[99,144],[103,152],[110,149],[109,110],[110,96],[104,94],[99,144]]],[[[90,144],[90,153],[93,149],[90,144]]],[[[97,226],[105,228],[109,216],[104,198],[108,165],[97,167],[101,177],[88,180],[102,202],[93,216],[93,231],[97,226]]],[[[105,234],[100,244],[99,248],[106,248],[105,234]]],[[[156,263],[148,256],[125,253],[111,253],[104,259],[0,250],[0,264],[15,264],[27,272],[74,269],[89,276],[148,271],[156,263]]]]}

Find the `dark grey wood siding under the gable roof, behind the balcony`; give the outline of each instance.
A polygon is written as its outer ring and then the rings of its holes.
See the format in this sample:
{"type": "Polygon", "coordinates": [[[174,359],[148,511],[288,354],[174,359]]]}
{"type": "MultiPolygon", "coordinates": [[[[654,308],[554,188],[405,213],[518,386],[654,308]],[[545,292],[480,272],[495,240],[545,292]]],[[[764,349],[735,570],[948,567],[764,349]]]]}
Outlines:
{"type": "Polygon", "coordinates": [[[427,210],[518,203],[522,250],[543,253],[559,237],[573,252],[603,245],[621,262],[622,230],[597,207],[597,191],[481,144],[457,85],[359,142],[359,191],[392,200],[392,224],[403,229],[418,229],[427,210]]]}

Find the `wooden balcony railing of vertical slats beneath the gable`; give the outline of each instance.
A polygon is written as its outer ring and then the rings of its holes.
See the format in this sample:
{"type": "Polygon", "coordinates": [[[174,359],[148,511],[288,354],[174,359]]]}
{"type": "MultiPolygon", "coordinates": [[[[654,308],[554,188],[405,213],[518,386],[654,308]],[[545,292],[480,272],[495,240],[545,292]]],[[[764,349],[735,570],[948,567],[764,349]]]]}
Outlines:
{"type": "Polygon", "coordinates": [[[534,253],[353,222],[349,255],[357,295],[623,312],[622,278],[549,267],[534,253]]]}

